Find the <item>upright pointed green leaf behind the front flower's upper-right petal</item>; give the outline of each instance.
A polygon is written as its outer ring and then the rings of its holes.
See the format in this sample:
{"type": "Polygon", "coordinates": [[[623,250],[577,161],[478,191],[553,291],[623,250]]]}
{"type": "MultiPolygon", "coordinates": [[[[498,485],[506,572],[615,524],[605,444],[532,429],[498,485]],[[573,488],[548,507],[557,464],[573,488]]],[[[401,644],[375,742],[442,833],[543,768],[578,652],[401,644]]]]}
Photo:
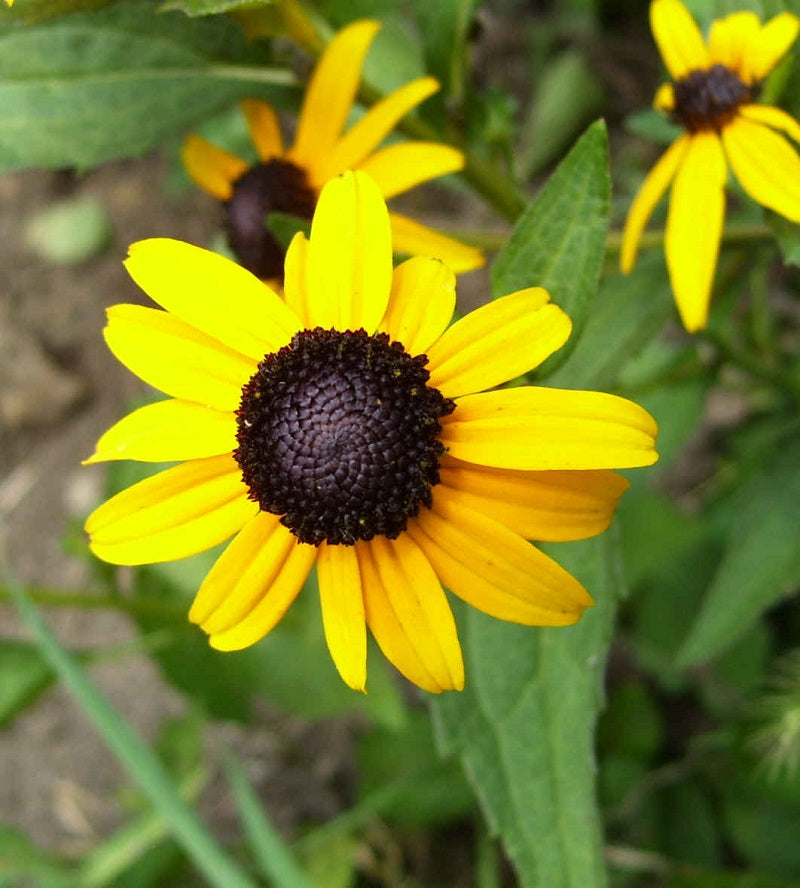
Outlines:
{"type": "Polygon", "coordinates": [[[570,316],[573,333],[558,352],[559,363],[580,337],[597,290],[609,194],[606,128],[597,121],[529,204],[492,266],[495,297],[545,287],[570,316]]]}

